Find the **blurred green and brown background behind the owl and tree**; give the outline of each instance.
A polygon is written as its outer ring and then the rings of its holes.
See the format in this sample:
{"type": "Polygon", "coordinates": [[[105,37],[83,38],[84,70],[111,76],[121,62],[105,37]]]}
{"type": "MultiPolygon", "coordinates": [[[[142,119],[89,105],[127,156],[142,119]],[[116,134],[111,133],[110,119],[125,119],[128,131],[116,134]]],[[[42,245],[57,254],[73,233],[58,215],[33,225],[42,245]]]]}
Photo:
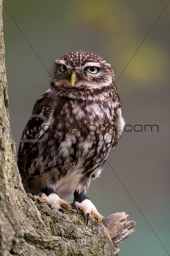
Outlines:
{"type": "Polygon", "coordinates": [[[133,130],[124,132],[88,195],[101,214],[123,211],[136,221],[136,232],[121,245],[120,256],[170,254],[170,5],[145,38],[167,2],[4,0],[10,123],[16,148],[35,100],[49,87],[46,69],[52,70],[56,57],[88,50],[115,69],[123,115],[133,130]],[[142,131],[134,130],[136,124],[142,131]],[[156,126],[145,131],[145,124],[157,124],[159,131],[156,126]]]}

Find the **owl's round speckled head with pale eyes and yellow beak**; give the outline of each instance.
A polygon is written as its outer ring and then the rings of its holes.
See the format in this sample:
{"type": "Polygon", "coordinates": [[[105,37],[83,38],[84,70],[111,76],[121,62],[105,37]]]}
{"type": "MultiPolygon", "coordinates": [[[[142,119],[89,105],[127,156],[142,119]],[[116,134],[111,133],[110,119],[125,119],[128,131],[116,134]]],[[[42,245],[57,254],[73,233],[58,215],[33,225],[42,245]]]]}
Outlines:
{"type": "Polygon", "coordinates": [[[97,90],[115,83],[115,75],[101,56],[80,50],[55,59],[52,82],[64,90],[97,90]]]}

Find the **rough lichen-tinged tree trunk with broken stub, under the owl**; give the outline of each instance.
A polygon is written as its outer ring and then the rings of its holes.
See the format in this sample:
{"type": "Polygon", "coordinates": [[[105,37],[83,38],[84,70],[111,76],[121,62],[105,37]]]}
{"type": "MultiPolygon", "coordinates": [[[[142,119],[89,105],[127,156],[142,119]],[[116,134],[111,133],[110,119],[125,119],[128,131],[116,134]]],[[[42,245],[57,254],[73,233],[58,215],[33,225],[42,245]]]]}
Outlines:
{"type": "Polygon", "coordinates": [[[108,217],[107,228],[81,214],[54,212],[39,197],[25,194],[10,136],[0,1],[0,254],[117,255],[119,242],[133,233],[124,212],[108,217]]]}

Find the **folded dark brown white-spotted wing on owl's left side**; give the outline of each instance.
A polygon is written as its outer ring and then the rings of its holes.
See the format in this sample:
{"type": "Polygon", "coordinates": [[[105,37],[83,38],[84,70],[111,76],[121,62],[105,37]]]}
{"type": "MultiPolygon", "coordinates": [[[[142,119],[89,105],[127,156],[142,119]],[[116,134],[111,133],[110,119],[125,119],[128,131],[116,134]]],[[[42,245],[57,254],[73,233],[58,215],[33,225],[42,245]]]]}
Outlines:
{"type": "Polygon", "coordinates": [[[46,141],[51,115],[52,95],[50,92],[46,92],[35,102],[31,117],[23,130],[19,144],[18,163],[19,159],[30,151],[34,143],[46,141]]]}

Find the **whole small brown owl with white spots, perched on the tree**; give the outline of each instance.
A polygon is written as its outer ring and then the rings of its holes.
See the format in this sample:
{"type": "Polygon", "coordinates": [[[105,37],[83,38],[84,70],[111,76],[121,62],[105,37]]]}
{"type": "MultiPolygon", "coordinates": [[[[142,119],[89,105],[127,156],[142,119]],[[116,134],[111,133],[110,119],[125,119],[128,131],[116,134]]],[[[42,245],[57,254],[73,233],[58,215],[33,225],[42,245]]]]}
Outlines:
{"type": "MultiPolygon", "coordinates": [[[[74,195],[86,218],[94,215],[102,221],[86,190],[100,175],[123,129],[111,65],[85,51],[55,59],[49,90],[35,102],[19,145],[25,190],[45,193],[43,198],[57,209],[63,206],[58,198],[74,195]]],[[[69,203],[63,207],[70,209],[69,203]]]]}

